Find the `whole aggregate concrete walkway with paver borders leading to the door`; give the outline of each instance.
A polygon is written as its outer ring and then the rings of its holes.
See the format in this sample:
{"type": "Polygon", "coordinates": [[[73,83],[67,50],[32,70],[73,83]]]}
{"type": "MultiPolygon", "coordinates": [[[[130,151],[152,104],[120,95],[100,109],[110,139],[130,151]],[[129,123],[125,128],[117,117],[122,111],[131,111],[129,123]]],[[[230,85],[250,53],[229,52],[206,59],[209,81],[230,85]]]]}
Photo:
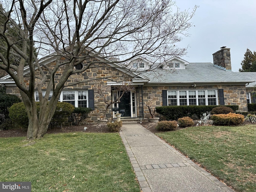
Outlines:
{"type": "Polygon", "coordinates": [[[234,192],[140,124],[120,135],[143,192],[234,192]]]}

